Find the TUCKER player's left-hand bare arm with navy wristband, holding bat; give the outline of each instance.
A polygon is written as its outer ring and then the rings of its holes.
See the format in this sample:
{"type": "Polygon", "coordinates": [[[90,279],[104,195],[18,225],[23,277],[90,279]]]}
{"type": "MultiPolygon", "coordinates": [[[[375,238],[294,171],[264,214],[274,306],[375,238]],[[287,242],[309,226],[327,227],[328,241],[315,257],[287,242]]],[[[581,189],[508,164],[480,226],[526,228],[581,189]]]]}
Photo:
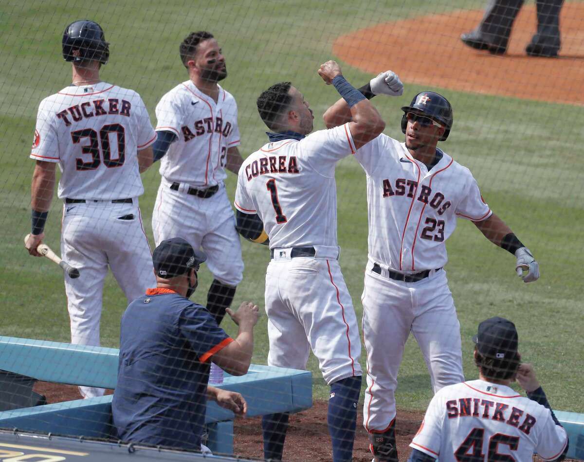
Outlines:
{"type": "Polygon", "coordinates": [[[48,209],[53,201],[55,189],[55,162],[37,160],[34,166],[33,180],[30,187],[30,206],[32,208],[32,230],[26,240],[25,247],[30,255],[42,257],[37,247],[44,239],[44,224],[47,221],[48,209]]]}

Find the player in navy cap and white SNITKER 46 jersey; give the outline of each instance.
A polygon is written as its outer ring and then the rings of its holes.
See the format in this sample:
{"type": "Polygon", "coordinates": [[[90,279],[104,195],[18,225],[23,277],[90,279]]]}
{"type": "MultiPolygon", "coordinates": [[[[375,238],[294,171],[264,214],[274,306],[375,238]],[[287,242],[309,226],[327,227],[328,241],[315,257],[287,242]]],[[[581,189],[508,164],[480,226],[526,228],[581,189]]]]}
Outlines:
{"type": "Polygon", "coordinates": [[[562,460],[568,435],[548,404],[533,368],[520,364],[515,325],[493,317],[475,337],[479,380],[438,391],[413,438],[409,462],[562,460]],[[522,397],[509,387],[517,379],[522,397]]]}

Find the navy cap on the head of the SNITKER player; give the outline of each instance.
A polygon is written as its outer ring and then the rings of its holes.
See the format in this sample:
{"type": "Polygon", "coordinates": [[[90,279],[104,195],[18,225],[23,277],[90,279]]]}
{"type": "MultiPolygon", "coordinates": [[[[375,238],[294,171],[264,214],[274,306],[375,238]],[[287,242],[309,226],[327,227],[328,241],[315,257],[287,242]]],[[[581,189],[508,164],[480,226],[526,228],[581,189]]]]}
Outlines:
{"type": "Polygon", "coordinates": [[[511,321],[492,317],[478,325],[478,333],[472,340],[478,352],[493,359],[513,359],[517,355],[519,335],[511,321]]]}

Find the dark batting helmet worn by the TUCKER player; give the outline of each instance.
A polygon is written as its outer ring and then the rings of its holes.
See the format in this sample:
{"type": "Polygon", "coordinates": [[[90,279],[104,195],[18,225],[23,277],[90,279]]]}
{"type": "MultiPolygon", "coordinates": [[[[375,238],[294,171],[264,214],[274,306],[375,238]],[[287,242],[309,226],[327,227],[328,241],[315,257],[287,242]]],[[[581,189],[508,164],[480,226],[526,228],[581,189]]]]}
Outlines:
{"type": "Polygon", "coordinates": [[[96,60],[106,64],[109,43],[98,23],[82,19],[65,27],[63,33],[63,58],[65,61],[96,60]]]}

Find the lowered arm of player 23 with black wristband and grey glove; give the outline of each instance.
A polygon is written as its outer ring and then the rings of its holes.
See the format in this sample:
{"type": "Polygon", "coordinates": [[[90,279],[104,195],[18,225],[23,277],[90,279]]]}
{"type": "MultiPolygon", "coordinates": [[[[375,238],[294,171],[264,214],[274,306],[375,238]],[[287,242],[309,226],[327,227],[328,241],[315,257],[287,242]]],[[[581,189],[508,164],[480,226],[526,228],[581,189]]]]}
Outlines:
{"type": "Polygon", "coordinates": [[[515,255],[517,258],[515,271],[523,279],[523,282],[533,282],[539,279],[540,265],[533,258],[529,248],[517,239],[511,228],[495,213],[492,213],[486,220],[473,223],[484,234],[486,239],[515,255]]]}

